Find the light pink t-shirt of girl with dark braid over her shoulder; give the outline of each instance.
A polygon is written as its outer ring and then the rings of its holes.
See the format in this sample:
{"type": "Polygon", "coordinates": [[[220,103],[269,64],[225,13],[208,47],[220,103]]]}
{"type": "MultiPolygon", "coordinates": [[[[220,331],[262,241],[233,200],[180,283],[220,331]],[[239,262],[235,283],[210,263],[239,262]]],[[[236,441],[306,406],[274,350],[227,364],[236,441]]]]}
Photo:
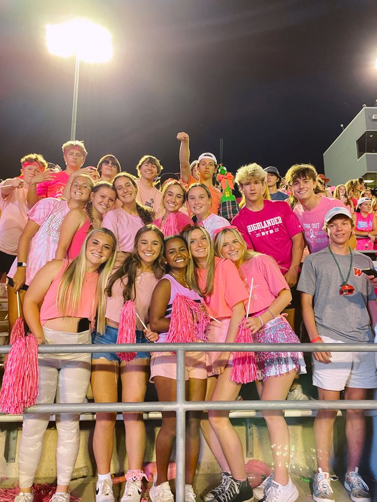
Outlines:
{"type": "Polygon", "coordinates": [[[131,252],[134,248],[135,235],[144,224],[139,216],[132,216],[119,209],[111,209],[103,216],[102,227],[111,230],[117,241],[117,251],[131,252]]]}

